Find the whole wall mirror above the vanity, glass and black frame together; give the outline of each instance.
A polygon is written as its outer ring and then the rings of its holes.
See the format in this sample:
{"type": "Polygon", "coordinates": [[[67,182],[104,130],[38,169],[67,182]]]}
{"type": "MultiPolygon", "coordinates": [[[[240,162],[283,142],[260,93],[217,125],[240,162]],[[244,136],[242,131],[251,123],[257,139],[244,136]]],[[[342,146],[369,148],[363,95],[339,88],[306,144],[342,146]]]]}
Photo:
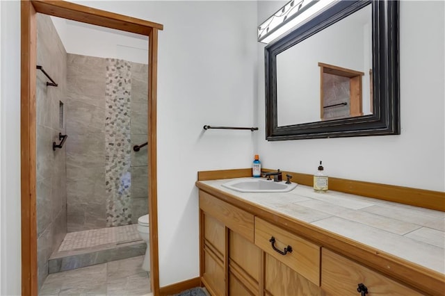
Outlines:
{"type": "Polygon", "coordinates": [[[398,1],[339,1],[265,48],[266,140],[400,134],[398,1]]]}

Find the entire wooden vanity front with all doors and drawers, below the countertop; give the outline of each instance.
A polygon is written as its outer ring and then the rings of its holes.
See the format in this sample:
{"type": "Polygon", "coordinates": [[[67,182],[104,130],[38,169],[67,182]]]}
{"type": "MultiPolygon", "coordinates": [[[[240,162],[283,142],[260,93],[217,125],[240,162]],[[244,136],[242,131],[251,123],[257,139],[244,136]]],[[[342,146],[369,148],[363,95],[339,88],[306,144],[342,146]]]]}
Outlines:
{"type": "Polygon", "coordinates": [[[422,295],[203,190],[200,258],[211,295],[422,295]]]}

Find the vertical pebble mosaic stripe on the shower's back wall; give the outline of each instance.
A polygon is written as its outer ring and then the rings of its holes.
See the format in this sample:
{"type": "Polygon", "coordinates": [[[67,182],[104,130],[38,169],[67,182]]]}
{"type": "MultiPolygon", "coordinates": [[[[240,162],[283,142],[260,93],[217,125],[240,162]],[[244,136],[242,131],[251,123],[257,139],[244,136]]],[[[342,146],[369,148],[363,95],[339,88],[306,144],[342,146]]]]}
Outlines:
{"type": "Polygon", "coordinates": [[[131,224],[131,65],[106,59],[106,226],[131,224]]]}

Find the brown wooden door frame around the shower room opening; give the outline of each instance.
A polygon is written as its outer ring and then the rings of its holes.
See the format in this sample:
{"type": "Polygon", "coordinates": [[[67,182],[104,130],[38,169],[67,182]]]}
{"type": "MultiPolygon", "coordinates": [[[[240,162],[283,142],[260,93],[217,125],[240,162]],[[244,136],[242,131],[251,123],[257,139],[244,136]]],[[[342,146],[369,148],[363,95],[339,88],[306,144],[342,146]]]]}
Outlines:
{"type": "Polygon", "coordinates": [[[146,35],[148,56],[148,186],[150,224],[150,279],[152,292],[159,295],[159,247],[156,165],[156,83],[158,31],[162,24],[148,22],[87,6],[47,0],[21,1],[21,215],[22,215],[22,295],[38,295],[37,219],[36,219],[36,144],[35,76],[37,65],[36,14],[53,15],[77,22],[115,28],[146,35]]]}

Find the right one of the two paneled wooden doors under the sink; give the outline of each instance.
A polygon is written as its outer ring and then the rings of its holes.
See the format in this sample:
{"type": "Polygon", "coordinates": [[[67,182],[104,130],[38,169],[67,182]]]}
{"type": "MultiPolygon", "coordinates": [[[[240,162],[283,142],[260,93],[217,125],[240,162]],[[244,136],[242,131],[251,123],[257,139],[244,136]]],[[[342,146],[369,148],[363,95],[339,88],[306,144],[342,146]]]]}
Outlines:
{"type": "Polygon", "coordinates": [[[241,283],[249,294],[259,295],[260,270],[259,247],[240,234],[229,231],[229,295],[243,295],[241,283]]]}

